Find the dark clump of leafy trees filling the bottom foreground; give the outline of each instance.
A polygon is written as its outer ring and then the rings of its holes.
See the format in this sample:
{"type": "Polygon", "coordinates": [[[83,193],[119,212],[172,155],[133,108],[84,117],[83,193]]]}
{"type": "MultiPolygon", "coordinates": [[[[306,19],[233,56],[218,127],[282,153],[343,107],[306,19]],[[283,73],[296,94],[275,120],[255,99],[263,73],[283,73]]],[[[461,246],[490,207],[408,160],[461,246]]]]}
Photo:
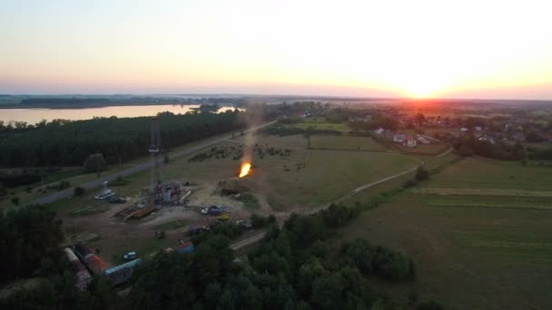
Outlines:
{"type": "MultiPolygon", "coordinates": [[[[115,295],[102,278],[75,293],[64,275],[0,301],[9,308],[43,309],[369,309],[397,308],[368,285],[367,276],[409,281],[409,257],[357,239],[338,257],[326,242],[335,228],[357,217],[360,208],[331,205],[313,215],[292,214],[282,228],[273,217],[259,247],[234,257],[229,237],[239,230],[222,224],[201,238],[188,255],[159,253],[133,275],[132,291],[115,295]]],[[[257,218],[260,220],[261,218],[257,218]]],[[[62,264],[63,265],[63,264],[62,264]]],[[[55,269],[62,275],[61,269],[55,269]]],[[[73,279],[74,281],[74,279],[73,279]]]]}

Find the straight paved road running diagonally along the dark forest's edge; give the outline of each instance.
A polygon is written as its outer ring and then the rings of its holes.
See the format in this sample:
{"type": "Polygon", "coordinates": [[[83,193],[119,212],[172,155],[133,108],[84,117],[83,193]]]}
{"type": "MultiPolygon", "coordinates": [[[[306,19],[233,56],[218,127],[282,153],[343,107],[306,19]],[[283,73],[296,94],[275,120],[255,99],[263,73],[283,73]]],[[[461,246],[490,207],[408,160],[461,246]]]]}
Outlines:
{"type": "MultiPolygon", "coordinates": [[[[260,126],[253,127],[253,128],[251,128],[251,129],[249,129],[245,132],[260,130],[263,127],[266,127],[266,126],[269,126],[269,125],[273,124],[274,122],[276,122],[276,121],[270,121],[270,122],[264,123],[260,126]]],[[[190,155],[195,151],[205,149],[207,147],[210,147],[212,145],[221,143],[222,141],[225,141],[225,140],[228,140],[228,139],[231,139],[231,138],[232,138],[231,136],[227,136],[227,137],[223,137],[223,138],[220,138],[220,139],[217,139],[217,140],[207,141],[207,142],[204,142],[204,143],[201,143],[201,144],[198,144],[198,145],[194,145],[190,148],[186,148],[184,150],[179,150],[179,151],[169,153],[169,156],[171,157],[171,159],[176,159],[176,158],[179,158],[179,157],[182,157],[182,156],[190,155]]],[[[160,159],[160,161],[161,160],[163,160],[163,159],[160,159]]],[[[113,181],[118,176],[126,177],[126,176],[134,174],[136,172],[140,172],[140,171],[143,171],[143,170],[148,170],[151,167],[152,167],[152,162],[147,161],[147,162],[144,162],[142,164],[135,165],[135,166],[133,166],[133,167],[127,169],[127,170],[123,170],[123,171],[120,171],[120,172],[117,172],[117,173],[113,173],[111,175],[108,175],[108,176],[105,176],[105,177],[102,177],[102,178],[99,178],[99,179],[94,179],[92,181],[89,181],[89,182],[86,182],[86,183],[83,183],[83,184],[78,184],[76,186],[80,186],[81,188],[84,188],[84,189],[94,189],[94,188],[97,188],[97,187],[101,186],[102,184],[104,184],[105,181],[108,181],[108,182],[113,181]]],[[[60,190],[60,191],[57,191],[53,194],[46,195],[46,196],[41,197],[39,199],[35,199],[35,200],[27,203],[26,206],[33,205],[33,204],[43,205],[43,204],[46,204],[46,203],[54,202],[54,201],[59,200],[59,199],[72,197],[73,194],[74,194],[74,188],[60,190]]]]}

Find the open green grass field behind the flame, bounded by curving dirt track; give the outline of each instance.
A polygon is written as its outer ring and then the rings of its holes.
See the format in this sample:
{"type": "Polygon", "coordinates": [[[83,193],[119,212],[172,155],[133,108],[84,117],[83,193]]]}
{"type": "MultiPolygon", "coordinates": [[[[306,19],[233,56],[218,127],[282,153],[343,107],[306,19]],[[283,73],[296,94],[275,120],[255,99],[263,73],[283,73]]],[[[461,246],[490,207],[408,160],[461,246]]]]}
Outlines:
{"type": "MultiPolygon", "coordinates": [[[[329,148],[337,148],[342,144],[357,149],[362,143],[365,143],[367,150],[378,146],[369,138],[350,138],[355,137],[328,136],[320,140],[316,137],[317,141],[323,141],[329,148]]],[[[243,141],[229,141],[226,147],[237,146],[243,141]]],[[[251,190],[262,202],[277,211],[320,207],[351,189],[419,164],[419,160],[408,156],[381,151],[308,150],[305,138],[299,135],[258,135],[254,137],[253,143],[264,150],[271,147],[291,150],[290,156],[286,157],[264,155],[261,158],[253,152],[253,169],[247,177],[251,190]]],[[[171,161],[165,173],[167,179],[218,181],[235,178],[240,164],[241,160],[230,157],[201,162],[189,162],[186,158],[171,161]]]]}

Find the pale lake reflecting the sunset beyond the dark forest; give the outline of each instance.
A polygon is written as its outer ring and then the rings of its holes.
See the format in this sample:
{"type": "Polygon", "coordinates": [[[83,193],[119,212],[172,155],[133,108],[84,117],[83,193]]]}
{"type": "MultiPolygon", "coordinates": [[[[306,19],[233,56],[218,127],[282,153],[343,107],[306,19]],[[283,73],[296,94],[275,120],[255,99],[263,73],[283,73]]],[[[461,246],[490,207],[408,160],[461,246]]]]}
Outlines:
{"type": "MultiPolygon", "coordinates": [[[[192,111],[194,108],[199,108],[199,104],[163,104],[163,105],[122,105],[122,106],[106,106],[100,108],[83,108],[83,109],[46,109],[46,108],[29,108],[29,109],[0,109],[0,121],[5,124],[10,121],[26,121],[29,124],[35,124],[38,121],[52,121],[55,119],[64,119],[72,121],[90,120],[94,117],[138,117],[138,116],[153,116],[159,112],[170,111],[174,114],[184,114],[192,111]]],[[[233,110],[234,108],[227,106],[221,107],[217,112],[233,110]]]]}

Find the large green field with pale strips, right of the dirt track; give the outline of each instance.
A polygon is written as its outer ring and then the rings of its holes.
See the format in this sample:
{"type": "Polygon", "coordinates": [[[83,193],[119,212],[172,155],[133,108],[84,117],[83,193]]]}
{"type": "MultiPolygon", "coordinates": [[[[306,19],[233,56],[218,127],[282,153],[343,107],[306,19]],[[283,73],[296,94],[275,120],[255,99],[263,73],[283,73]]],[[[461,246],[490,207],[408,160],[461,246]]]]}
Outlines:
{"type": "Polygon", "coordinates": [[[417,292],[448,309],[550,309],[551,178],[549,168],[461,160],[363,212],[342,240],[366,237],[412,257],[416,281],[377,284],[405,302],[417,292]]]}

